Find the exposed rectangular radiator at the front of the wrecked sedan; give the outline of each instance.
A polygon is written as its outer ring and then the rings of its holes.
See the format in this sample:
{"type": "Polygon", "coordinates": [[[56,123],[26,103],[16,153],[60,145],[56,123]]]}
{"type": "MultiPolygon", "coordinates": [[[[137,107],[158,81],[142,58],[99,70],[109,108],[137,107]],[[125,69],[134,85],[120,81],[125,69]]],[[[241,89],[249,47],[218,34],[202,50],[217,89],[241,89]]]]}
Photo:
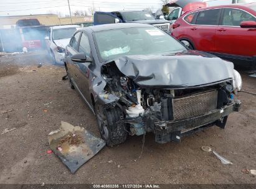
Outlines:
{"type": "Polygon", "coordinates": [[[173,99],[174,120],[201,116],[217,109],[218,91],[173,99]]]}

